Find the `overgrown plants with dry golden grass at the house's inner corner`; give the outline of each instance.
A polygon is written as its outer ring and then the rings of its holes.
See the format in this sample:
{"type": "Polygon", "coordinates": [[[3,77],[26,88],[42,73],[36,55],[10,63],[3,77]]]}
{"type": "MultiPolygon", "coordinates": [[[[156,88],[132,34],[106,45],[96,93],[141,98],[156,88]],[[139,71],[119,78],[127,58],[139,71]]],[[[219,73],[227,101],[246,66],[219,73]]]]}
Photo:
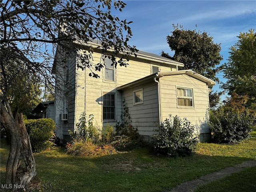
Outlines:
{"type": "Polygon", "coordinates": [[[115,127],[107,124],[99,129],[93,124],[93,115],[87,118],[83,112],[76,124],[76,130],[74,132],[69,130],[72,142],[66,145],[67,153],[79,156],[101,156],[142,146],[145,142],[137,129],[131,125],[128,108],[125,115],[127,118],[122,119],[122,123],[118,122],[115,127]]]}

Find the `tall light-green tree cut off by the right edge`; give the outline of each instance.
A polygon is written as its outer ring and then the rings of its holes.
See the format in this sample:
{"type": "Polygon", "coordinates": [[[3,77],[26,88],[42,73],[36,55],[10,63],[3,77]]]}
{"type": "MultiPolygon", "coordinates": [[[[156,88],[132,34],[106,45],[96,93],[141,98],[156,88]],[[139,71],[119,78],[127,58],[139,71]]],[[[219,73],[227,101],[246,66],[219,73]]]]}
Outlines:
{"type": "Polygon", "coordinates": [[[256,110],[256,32],[240,32],[238,42],[230,48],[228,62],[224,64],[222,85],[229,95],[248,96],[247,106],[256,110]]]}

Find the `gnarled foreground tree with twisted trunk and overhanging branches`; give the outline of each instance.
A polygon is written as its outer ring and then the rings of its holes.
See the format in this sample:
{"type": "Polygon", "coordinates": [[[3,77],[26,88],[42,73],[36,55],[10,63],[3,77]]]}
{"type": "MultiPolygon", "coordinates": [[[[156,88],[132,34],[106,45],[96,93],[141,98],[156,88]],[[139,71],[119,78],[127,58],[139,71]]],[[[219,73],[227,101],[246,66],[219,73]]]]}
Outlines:
{"type": "MultiPolygon", "coordinates": [[[[6,165],[7,186],[27,185],[36,173],[22,115],[17,110],[13,112],[10,106],[9,92],[15,88],[14,82],[18,82],[20,77],[26,77],[22,80],[26,84],[15,89],[20,93],[28,92],[29,86],[34,82],[53,86],[52,63],[56,46],[59,44],[67,51],[73,50],[74,41],[83,46],[91,39],[98,39],[102,42],[100,49],[103,53],[107,53],[110,47],[114,49],[108,56],[112,58],[115,66],[126,66],[128,55],[136,51],[134,46],[128,45],[132,36],[128,26],[131,22],[120,20],[110,12],[112,9],[122,11],[125,5],[119,0],[1,1],[0,120],[11,135],[10,154],[6,165]],[[116,56],[120,58],[118,61],[114,59],[116,56]],[[12,71],[16,74],[10,76],[12,71]],[[25,168],[22,168],[22,164],[25,168]]],[[[90,62],[92,48],[83,49],[88,51],[81,54],[82,65],[77,67],[88,68],[92,71],[92,76],[98,77],[96,72],[104,64],[94,66],[90,62]]]]}

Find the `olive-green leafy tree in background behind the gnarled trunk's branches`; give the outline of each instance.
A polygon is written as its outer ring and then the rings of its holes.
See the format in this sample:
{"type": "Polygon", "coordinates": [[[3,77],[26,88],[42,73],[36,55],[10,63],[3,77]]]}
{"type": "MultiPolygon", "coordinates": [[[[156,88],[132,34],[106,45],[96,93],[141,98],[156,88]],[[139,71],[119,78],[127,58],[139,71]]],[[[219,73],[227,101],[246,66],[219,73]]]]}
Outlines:
{"type": "Polygon", "coordinates": [[[18,106],[20,112],[29,115],[41,102],[38,79],[34,75],[27,76],[24,62],[12,58],[1,58],[1,62],[3,59],[12,65],[2,65],[1,90],[8,98],[12,111],[18,106]]]}

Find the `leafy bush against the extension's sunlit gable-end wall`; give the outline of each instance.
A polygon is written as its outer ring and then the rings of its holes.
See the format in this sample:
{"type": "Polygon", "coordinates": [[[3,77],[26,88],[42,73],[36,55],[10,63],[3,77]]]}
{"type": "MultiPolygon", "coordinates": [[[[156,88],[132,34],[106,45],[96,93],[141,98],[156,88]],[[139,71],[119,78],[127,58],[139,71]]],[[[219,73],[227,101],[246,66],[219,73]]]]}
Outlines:
{"type": "Polygon", "coordinates": [[[154,150],[157,154],[167,156],[186,156],[196,149],[198,137],[194,136],[195,127],[186,119],[179,116],[166,118],[158,124],[154,134],[154,150]]]}

